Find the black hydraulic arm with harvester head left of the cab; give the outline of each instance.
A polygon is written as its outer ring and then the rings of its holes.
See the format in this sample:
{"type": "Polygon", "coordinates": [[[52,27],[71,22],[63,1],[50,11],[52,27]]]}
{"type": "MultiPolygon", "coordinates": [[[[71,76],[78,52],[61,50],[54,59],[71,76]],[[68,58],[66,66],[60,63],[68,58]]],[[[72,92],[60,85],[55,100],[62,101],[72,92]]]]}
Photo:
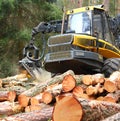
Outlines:
{"type": "Polygon", "coordinates": [[[41,59],[44,57],[45,53],[45,34],[50,32],[59,33],[61,31],[62,21],[51,21],[51,22],[40,22],[36,27],[32,29],[32,37],[30,42],[23,49],[24,58],[19,61],[22,67],[24,67],[29,74],[36,78],[36,73],[41,73],[41,59]],[[39,49],[35,46],[34,40],[35,35],[42,33],[43,49],[41,55],[39,55],[39,49]]]}

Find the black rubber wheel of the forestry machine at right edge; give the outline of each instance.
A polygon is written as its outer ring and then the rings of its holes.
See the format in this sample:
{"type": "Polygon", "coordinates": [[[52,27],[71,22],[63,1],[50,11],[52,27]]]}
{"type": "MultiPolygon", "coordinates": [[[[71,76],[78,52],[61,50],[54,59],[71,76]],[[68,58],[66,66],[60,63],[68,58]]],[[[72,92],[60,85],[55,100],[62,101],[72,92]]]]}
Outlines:
{"type": "Polygon", "coordinates": [[[102,73],[104,73],[105,77],[109,77],[114,71],[118,71],[120,69],[120,58],[109,58],[104,61],[102,73]]]}

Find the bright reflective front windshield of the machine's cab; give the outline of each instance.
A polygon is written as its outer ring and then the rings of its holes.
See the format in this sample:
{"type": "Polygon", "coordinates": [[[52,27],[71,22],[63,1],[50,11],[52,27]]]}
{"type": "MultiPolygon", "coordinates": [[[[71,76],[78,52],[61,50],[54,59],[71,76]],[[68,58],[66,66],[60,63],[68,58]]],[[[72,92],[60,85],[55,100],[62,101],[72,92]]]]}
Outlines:
{"type": "Polygon", "coordinates": [[[75,33],[90,34],[91,12],[71,14],[68,18],[68,30],[75,33]]]}

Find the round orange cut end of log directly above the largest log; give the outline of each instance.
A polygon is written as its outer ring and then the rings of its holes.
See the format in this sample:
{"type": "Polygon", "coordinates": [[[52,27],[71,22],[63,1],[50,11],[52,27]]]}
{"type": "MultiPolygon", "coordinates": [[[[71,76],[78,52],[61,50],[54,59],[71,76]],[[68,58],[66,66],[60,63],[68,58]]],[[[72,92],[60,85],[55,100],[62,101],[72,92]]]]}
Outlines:
{"type": "Polygon", "coordinates": [[[62,90],[63,90],[63,92],[69,92],[69,91],[73,90],[75,85],[76,85],[75,78],[70,74],[66,75],[62,81],[62,90]]]}

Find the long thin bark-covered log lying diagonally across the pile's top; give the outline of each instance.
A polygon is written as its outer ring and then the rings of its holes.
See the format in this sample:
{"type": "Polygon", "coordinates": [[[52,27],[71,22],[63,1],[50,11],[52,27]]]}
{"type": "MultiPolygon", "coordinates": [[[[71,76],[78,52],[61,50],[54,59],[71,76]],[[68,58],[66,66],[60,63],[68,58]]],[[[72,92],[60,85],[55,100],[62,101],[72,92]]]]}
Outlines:
{"type": "Polygon", "coordinates": [[[74,72],[69,70],[61,75],[55,76],[54,78],[51,78],[50,80],[43,82],[43,83],[39,83],[38,85],[34,86],[31,89],[26,90],[25,92],[23,92],[23,95],[26,95],[28,97],[33,97],[41,92],[43,92],[47,86],[52,85],[52,84],[56,84],[56,83],[61,83],[64,76],[65,75],[74,75],[74,72]]]}

